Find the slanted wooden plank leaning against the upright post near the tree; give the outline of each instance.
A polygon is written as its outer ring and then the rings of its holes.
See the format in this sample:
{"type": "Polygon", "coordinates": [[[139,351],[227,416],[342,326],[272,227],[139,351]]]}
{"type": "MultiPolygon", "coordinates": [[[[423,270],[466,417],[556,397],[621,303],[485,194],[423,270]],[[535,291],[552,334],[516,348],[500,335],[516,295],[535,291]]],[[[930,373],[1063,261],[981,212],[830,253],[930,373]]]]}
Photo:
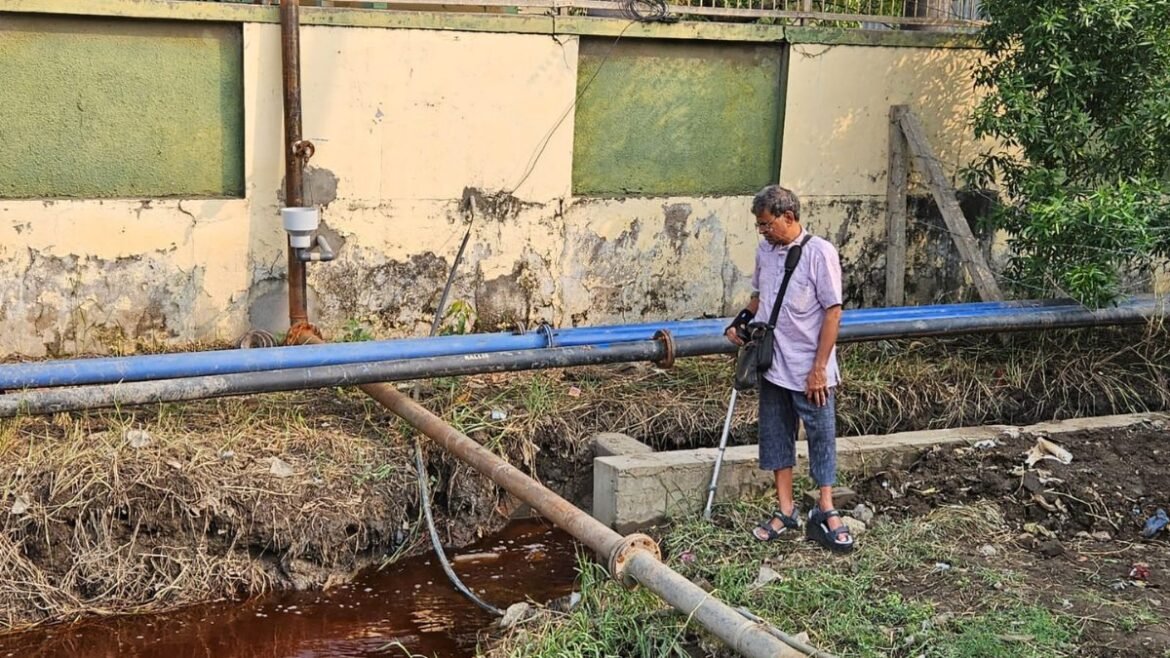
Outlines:
{"type": "Polygon", "coordinates": [[[922,130],[918,117],[914,116],[909,108],[899,114],[902,133],[906,135],[910,155],[920,170],[927,174],[930,192],[935,197],[935,203],[938,204],[938,210],[943,213],[947,228],[955,240],[955,246],[958,247],[959,258],[963,259],[968,274],[975,282],[976,289],[979,290],[979,296],[987,302],[1003,300],[999,285],[996,283],[996,277],[992,275],[991,268],[987,267],[983,252],[979,251],[979,242],[971,233],[966,218],[963,217],[963,210],[958,206],[958,199],[955,198],[955,191],[947,181],[938,158],[935,157],[934,150],[927,142],[925,131],[922,130]]]}

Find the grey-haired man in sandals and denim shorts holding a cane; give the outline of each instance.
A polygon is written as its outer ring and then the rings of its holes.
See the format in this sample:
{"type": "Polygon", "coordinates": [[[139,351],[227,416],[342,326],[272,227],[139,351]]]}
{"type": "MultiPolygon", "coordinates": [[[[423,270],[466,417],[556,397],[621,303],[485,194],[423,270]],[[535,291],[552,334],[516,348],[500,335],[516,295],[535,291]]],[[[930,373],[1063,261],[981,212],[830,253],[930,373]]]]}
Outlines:
{"type": "Polygon", "coordinates": [[[792,495],[792,467],[797,429],[804,421],[810,472],[820,489],[805,534],[833,551],[848,553],[853,550],[853,537],[833,508],[841,262],[833,245],[800,226],[800,200],[791,190],[764,187],[752,200],[751,213],[764,240],[756,249],[751,302],[727,328],[729,341],[742,345],[749,322],[770,320],[789,251],[800,249],[776,320],[772,365],[759,383],[759,467],[776,477],[778,507],[752,534],[759,541],[771,541],[800,528],[800,512],[792,495]]]}

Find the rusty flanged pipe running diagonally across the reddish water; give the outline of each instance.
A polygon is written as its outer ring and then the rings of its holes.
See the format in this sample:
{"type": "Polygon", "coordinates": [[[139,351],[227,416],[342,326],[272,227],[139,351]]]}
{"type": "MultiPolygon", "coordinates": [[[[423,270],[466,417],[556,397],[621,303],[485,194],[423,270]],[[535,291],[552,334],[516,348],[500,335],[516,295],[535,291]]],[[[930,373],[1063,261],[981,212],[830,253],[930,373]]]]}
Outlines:
{"type": "Polygon", "coordinates": [[[468,436],[431,413],[390,384],[365,384],[370,397],[393,411],[454,457],[491,479],[608,558],[610,575],[627,585],[641,584],[748,658],[799,658],[805,653],[746,619],[661,562],[658,544],[646,535],[621,536],[581,512],[552,489],[525,475],[468,436]]]}

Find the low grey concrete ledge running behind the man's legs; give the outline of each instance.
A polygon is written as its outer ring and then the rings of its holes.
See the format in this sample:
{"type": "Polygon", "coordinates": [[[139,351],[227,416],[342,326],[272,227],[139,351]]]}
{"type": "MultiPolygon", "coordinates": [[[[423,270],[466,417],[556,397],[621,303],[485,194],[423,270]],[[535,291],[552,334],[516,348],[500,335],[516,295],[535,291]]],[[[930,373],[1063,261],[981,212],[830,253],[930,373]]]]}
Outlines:
{"type": "MultiPolygon", "coordinates": [[[[1126,427],[1141,423],[1166,423],[1170,414],[1136,413],[1081,418],[1038,425],[983,425],[950,430],[842,437],[837,441],[838,468],[874,473],[903,466],[921,451],[936,445],[994,439],[1007,432],[1046,434],[1126,427]]],[[[797,468],[806,468],[807,444],[797,444],[797,468]]],[[[701,514],[718,448],[682,450],[640,454],[613,454],[593,460],[593,516],[619,533],[659,522],[668,516],[701,514]]],[[[772,473],[760,471],[757,447],[727,448],[716,501],[756,495],[772,486],[772,473]]]]}

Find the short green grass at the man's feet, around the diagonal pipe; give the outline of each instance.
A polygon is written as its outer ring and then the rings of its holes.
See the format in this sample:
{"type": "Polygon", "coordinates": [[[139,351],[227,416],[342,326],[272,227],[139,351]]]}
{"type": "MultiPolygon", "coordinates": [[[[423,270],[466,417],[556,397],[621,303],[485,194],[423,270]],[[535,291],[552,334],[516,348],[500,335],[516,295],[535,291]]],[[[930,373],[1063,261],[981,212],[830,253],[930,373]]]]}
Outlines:
{"type": "MultiPolygon", "coordinates": [[[[991,541],[1000,532],[987,503],[940,508],[924,519],[887,523],[863,535],[849,557],[831,557],[801,542],[762,544],[743,530],[766,514],[768,500],[717,509],[714,525],[669,527],[668,563],[725,603],[743,605],[789,635],[849,657],[1059,657],[1075,650],[1078,625],[1030,602],[1026,592],[986,582],[1018,582],[1011,573],[968,566],[955,546],[991,541]],[[938,571],[936,563],[951,566],[938,571]],[[780,577],[760,584],[769,566],[780,577]],[[972,578],[971,575],[976,577],[972,578]],[[952,609],[961,581],[979,583],[973,604],[952,609]]],[[[544,617],[488,651],[491,658],[689,656],[688,645],[725,656],[717,640],[644,589],[626,590],[581,560],[583,603],[563,617],[544,617]]]]}

